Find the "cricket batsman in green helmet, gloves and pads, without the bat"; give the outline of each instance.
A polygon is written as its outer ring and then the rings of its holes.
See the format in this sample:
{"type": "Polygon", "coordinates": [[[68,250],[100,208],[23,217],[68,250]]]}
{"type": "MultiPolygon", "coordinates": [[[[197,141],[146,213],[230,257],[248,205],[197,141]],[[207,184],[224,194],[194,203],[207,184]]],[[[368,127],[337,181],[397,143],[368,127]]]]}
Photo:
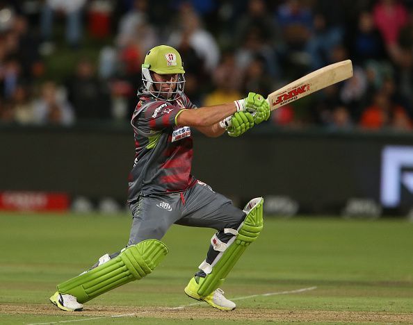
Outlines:
{"type": "MultiPolygon", "coordinates": [[[[168,253],[160,240],[172,224],[216,229],[206,258],[184,292],[220,310],[236,307],[218,287],[259,236],[264,199],[252,199],[240,210],[198,181],[191,174],[191,132],[196,128],[208,137],[238,137],[268,119],[270,107],[264,97],[250,92],[245,99],[197,108],[184,93],[184,73],[176,49],[160,45],[147,53],[143,87],[131,118],[136,156],[129,175],[129,242],[122,251],[105,254],[88,271],[58,284],[50,297],[58,308],[82,310],[83,303],[99,294],[151,273],[168,253]]],[[[184,240],[182,245],[191,247],[184,240]]]]}

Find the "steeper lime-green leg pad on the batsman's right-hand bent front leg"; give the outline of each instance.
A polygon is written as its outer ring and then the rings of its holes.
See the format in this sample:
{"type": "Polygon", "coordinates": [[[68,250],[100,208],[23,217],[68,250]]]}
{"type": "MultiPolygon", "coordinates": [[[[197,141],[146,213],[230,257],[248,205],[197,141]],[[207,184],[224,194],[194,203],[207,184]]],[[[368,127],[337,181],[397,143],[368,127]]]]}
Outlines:
{"type": "Polygon", "coordinates": [[[204,281],[200,282],[200,288],[197,292],[200,297],[206,297],[215,291],[225,281],[228,273],[245,249],[257,240],[263,227],[263,203],[264,199],[261,198],[261,201],[245,217],[241,228],[238,229],[238,235],[236,235],[234,242],[218,255],[217,258],[219,260],[215,265],[212,265],[212,272],[206,275],[204,281]]]}

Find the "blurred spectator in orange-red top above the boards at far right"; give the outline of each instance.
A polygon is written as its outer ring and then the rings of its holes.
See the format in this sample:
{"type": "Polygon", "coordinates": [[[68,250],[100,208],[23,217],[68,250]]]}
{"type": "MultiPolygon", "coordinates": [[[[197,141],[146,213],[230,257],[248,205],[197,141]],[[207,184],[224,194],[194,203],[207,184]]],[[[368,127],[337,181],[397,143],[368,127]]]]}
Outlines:
{"type": "Polygon", "coordinates": [[[387,94],[378,91],[373,104],[362,113],[360,126],[366,130],[389,128],[394,131],[408,131],[412,128],[412,121],[405,108],[391,102],[387,94]]]}

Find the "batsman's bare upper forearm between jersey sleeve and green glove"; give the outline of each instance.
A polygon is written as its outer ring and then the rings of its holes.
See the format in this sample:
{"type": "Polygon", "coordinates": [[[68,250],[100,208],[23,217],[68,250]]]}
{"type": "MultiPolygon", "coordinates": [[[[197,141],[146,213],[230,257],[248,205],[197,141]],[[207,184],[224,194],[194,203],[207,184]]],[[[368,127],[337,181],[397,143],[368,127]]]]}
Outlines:
{"type": "Polygon", "coordinates": [[[217,124],[236,112],[234,103],[201,107],[195,110],[184,110],[177,117],[179,126],[208,127],[217,124]]]}

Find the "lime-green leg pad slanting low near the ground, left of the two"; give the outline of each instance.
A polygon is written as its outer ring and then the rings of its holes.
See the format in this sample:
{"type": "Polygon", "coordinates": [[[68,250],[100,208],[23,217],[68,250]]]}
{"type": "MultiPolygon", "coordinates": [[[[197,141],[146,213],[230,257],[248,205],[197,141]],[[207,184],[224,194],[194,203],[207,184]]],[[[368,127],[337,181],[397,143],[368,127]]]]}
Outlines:
{"type": "Polygon", "coordinates": [[[128,247],[116,258],[57,285],[60,294],[72,294],[85,303],[125,283],[140,280],[155,269],[168,254],[159,240],[144,240],[128,247]]]}

